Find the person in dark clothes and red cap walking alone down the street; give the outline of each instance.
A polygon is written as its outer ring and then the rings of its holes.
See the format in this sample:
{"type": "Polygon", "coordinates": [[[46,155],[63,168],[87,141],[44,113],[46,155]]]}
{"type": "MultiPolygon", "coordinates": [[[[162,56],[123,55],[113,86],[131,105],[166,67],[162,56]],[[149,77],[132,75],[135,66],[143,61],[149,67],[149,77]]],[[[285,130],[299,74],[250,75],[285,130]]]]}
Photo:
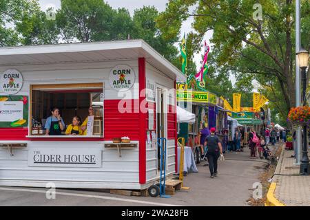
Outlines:
{"type": "Polygon", "coordinates": [[[207,136],[207,158],[209,162],[210,177],[214,178],[218,175],[218,157],[223,157],[223,148],[220,139],[215,135],[215,128],[211,128],[211,134],[207,136]]]}

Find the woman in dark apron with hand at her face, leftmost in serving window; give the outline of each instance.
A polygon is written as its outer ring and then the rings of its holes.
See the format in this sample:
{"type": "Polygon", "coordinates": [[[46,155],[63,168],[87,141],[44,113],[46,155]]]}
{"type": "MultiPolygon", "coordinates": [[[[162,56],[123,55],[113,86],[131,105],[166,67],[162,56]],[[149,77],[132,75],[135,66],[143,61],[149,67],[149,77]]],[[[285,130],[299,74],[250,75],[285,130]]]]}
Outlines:
{"type": "Polygon", "coordinates": [[[45,122],[45,135],[61,135],[61,131],[65,129],[65,122],[59,114],[59,109],[52,109],[52,116],[48,117],[45,122]]]}

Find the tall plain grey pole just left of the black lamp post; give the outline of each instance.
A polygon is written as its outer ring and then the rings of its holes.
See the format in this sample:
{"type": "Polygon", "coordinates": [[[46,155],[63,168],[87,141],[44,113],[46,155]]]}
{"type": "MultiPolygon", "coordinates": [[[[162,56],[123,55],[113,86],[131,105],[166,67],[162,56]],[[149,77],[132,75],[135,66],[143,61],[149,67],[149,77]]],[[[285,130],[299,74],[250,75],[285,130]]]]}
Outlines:
{"type": "MultiPolygon", "coordinates": [[[[297,53],[300,51],[300,0],[296,0],[296,107],[300,106],[300,67],[299,67],[299,61],[297,53]]],[[[307,134],[304,134],[307,135],[307,134]]],[[[300,126],[296,129],[296,141],[295,141],[295,155],[296,155],[296,165],[300,164],[300,152],[301,152],[301,146],[302,146],[302,140],[301,140],[301,129],[300,126]]]]}

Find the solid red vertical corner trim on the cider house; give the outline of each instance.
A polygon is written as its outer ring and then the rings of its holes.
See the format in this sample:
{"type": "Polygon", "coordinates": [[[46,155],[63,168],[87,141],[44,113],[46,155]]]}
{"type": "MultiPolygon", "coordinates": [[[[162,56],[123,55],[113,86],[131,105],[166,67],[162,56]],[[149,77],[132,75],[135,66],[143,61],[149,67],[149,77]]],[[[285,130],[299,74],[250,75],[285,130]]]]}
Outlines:
{"type": "MultiPolygon", "coordinates": [[[[138,58],[138,78],[139,78],[139,103],[145,101],[145,94],[141,94],[145,90],[145,58],[138,58]]],[[[145,184],[146,182],[146,126],[145,120],[147,113],[140,111],[139,124],[140,124],[140,137],[139,137],[139,182],[145,184]]]]}

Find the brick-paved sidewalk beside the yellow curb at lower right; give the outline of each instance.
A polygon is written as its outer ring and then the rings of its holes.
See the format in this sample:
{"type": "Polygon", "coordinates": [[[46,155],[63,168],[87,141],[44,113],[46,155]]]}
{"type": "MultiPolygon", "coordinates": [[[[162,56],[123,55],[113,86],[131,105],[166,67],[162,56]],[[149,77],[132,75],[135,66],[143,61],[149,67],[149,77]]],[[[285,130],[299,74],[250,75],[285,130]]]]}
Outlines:
{"type": "Polygon", "coordinates": [[[293,165],[293,151],[283,150],[273,182],[276,182],[274,196],[285,206],[310,206],[310,176],[298,176],[300,166],[293,165]],[[294,176],[296,175],[296,176],[294,176]]]}

